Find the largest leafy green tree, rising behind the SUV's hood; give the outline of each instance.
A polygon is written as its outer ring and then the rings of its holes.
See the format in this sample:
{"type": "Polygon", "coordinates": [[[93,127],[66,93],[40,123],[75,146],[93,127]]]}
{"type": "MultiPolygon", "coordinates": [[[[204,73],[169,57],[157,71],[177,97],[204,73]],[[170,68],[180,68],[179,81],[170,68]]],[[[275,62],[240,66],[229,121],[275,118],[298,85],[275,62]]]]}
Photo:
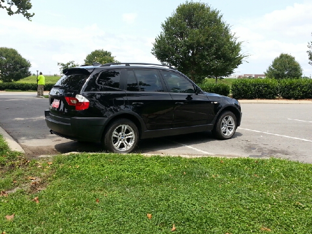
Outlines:
{"type": "Polygon", "coordinates": [[[152,54],[175,66],[193,81],[227,77],[248,55],[230,31],[219,11],[201,2],[180,4],[161,24],[162,32],[153,43],[152,54]]]}

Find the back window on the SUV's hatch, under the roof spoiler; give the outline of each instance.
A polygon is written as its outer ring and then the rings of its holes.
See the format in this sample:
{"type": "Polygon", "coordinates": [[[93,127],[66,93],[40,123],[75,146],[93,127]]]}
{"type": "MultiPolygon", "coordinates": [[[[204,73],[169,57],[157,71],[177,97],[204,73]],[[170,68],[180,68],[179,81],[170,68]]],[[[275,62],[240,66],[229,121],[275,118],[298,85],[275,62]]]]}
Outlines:
{"type": "Polygon", "coordinates": [[[83,84],[89,75],[85,74],[70,74],[62,76],[59,81],[54,85],[55,88],[60,88],[64,90],[75,90],[81,89],[83,84]]]}

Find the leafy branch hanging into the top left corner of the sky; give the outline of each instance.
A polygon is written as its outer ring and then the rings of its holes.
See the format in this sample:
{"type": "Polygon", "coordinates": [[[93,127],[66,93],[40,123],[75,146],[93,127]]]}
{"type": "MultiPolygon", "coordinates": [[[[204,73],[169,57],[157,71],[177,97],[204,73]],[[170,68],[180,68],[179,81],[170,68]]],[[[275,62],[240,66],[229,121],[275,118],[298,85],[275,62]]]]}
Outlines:
{"type": "MultiPolygon", "coordinates": [[[[27,20],[30,20],[35,13],[29,13],[28,10],[32,8],[30,0],[7,0],[6,5],[4,4],[5,0],[0,0],[0,8],[6,9],[9,16],[14,14],[22,14],[27,20]],[[12,6],[17,7],[17,10],[14,12],[12,6]]],[[[31,21],[31,20],[30,20],[31,21]]]]}

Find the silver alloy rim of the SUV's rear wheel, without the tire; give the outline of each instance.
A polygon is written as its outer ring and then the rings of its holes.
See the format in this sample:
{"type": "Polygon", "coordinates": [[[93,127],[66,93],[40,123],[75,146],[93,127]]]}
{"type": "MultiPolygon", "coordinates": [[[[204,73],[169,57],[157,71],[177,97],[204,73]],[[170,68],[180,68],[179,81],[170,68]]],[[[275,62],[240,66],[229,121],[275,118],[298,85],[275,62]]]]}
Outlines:
{"type": "Polygon", "coordinates": [[[128,124],[121,124],[113,131],[113,146],[118,151],[127,151],[135,143],[135,131],[128,124]]]}

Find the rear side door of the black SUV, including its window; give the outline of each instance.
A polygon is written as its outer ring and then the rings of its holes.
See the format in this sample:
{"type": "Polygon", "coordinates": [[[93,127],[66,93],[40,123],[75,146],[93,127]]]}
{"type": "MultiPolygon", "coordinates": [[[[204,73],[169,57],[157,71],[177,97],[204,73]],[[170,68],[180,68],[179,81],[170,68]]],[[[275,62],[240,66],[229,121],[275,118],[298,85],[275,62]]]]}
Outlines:
{"type": "Polygon", "coordinates": [[[127,69],[126,93],[130,108],[144,120],[147,129],[171,128],[172,98],[157,69],[127,69]]]}

